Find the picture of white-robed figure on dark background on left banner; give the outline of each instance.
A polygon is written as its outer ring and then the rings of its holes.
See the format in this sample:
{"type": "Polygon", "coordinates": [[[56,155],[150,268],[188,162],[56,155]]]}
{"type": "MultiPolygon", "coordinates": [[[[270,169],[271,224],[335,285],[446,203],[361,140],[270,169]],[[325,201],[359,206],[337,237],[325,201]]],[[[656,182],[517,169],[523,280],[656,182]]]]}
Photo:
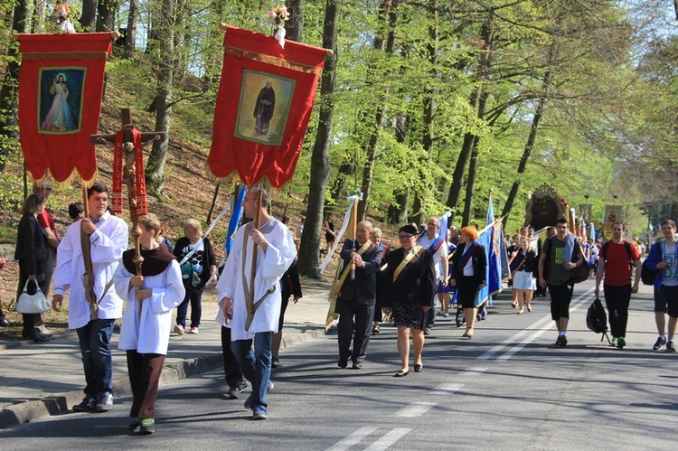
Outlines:
{"type": "Polygon", "coordinates": [[[40,133],[79,133],[85,68],[42,68],[38,121],[40,133]]]}

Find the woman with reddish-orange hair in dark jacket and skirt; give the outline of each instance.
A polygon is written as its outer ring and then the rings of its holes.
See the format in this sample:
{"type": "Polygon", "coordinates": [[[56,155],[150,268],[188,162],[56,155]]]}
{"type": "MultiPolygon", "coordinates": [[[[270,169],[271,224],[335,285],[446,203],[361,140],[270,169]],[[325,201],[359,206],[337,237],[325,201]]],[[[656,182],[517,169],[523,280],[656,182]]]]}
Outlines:
{"type": "Polygon", "coordinates": [[[466,226],[461,230],[459,246],[452,258],[452,274],[450,287],[457,287],[457,305],[464,309],[466,332],[464,337],[469,340],[473,337],[473,328],[476,324],[476,310],[478,290],[485,287],[485,272],[487,258],[485,247],[477,243],[478,230],[474,226],[466,226]]]}

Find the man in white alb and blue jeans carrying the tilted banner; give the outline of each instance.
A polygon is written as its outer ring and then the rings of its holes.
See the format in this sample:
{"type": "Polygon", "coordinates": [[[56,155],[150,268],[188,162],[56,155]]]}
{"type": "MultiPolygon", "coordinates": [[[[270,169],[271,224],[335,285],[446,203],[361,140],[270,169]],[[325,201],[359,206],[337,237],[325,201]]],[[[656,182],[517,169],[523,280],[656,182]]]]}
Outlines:
{"type": "Polygon", "coordinates": [[[282,304],[278,282],[297,256],[297,247],[287,226],[268,214],[266,191],[251,189],[242,206],[248,218],[259,214],[259,230],[254,229],[252,224],[245,224],[236,231],[217,288],[223,315],[231,322],[231,350],[245,378],[252,383],[252,394],[245,401],[245,408],[252,409],[252,418],[266,419],[271,339],[278,332],[282,304]],[[257,243],[257,266],[252,283],[254,243],[257,243]],[[249,328],[248,291],[254,304],[260,301],[249,328]]]}

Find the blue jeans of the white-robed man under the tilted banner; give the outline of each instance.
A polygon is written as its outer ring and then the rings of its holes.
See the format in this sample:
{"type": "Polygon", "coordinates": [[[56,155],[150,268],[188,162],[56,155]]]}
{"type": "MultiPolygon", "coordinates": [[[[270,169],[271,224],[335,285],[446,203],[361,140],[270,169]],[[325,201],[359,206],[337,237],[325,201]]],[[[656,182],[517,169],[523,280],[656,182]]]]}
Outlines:
{"type": "Polygon", "coordinates": [[[252,394],[250,395],[252,410],[268,408],[266,391],[270,381],[272,339],[272,332],[254,334],[254,351],[252,351],[252,339],[231,342],[231,351],[240,365],[242,374],[245,379],[252,383],[252,394]]]}

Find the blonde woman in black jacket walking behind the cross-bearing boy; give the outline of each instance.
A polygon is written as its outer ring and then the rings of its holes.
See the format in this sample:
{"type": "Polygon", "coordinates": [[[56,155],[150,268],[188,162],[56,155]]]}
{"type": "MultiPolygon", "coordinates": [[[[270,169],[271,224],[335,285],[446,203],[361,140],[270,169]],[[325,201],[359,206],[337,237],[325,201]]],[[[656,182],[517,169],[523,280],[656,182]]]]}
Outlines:
{"type": "Polygon", "coordinates": [[[184,334],[186,328],[189,302],[191,303],[191,328],[188,333],[198,333],[202,316],[202,289],[217,272],[217,262],[210,240],[202,238],[200,222],[190,219],[184,221],[184,237],[176,240],[174,257],[182,262],[193,249],[195,251],[191,257],[181,266],[186,296],[184,302],[177,307],[176,325],[174,325],[174,332],[180,335],[184,334]]]}

